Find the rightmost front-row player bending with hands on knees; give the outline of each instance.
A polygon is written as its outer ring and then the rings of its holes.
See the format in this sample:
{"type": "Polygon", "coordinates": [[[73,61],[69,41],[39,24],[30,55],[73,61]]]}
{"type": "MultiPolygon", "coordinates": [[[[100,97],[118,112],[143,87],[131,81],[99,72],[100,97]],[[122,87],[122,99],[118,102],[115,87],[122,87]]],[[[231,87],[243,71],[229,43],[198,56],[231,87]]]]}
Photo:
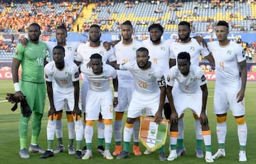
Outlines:
{"type": "Polygon", "coordinates": [[[177,158],[178,118],[187,108],[190,108],[193,114],[196,114],[200,118],[203,141],[206,145],[206,162],[213,163],[210,146],[210,128],[206,116],[206,102],[208,97],[206,77],[201,67],[191,65],[190,61],[189,53],[178,53],[177,65],[171,67],[167,76],[166,95],[171,106],[171,152],[167,160],[175,160],[177,158]],[[172,91],[175,81],[178,82],[178,87],[172,91]]]}

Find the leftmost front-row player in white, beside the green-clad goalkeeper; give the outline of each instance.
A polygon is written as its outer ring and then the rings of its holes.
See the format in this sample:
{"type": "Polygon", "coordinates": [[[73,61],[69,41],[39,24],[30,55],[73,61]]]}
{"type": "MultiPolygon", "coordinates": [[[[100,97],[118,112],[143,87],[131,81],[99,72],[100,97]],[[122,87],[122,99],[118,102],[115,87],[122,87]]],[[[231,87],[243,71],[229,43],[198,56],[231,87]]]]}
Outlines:
{"type": "Polygon", "coordinates": [[[67,104],[66,111],[73,113],[75,124],[75,138],[77,141],[75,158],[82,158],[81,143],[83,125],[81,111],[78,108],[79,99],[79,72],[78,67],[71,60],[65,60],[65,48],[56,45],[53,48],[53,60],[45,67],[47,92],[50,102],[48,111],[47,141],[48,150],[41,158],[49,158],[53,154],[53,140],[56,130],[56,120],[62,115],[64,104],[67,104]],[[54,81],[54,84],[53,84],[54,81]]]}

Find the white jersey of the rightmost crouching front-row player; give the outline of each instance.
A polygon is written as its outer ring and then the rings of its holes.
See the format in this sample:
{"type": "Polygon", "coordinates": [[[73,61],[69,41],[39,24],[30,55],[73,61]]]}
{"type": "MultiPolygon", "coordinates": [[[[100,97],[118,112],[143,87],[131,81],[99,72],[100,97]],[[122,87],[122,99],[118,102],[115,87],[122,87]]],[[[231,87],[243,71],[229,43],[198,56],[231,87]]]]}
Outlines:
{"type": "Polygon", "coordinates": [[[188,75],[184,76],[178,70],[178,66],[171,67],[167,75],[166,84],[174,87],[174,82],[178,82],[178,89],[185,93],[196,93],[200,86],[206,84],[206,76],[198,65],[191,65],[188,75]]]}

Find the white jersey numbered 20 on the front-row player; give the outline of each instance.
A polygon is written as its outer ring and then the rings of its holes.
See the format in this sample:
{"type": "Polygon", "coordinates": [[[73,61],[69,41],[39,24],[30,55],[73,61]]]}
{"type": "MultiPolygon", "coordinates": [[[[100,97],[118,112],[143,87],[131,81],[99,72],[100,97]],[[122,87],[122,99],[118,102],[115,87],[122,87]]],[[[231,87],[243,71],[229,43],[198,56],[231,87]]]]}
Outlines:
{"type": "Polygon", "coordinates": [[[159,86],[165,86],[163,79],[164,72],[151,63],[151,67],[142,70],[138,67],[137,62],[127,62],[119,66],[120,70],[129,70],[134,77],[134,88],[142,94],[151,94],[159,92],[159,86]]]}

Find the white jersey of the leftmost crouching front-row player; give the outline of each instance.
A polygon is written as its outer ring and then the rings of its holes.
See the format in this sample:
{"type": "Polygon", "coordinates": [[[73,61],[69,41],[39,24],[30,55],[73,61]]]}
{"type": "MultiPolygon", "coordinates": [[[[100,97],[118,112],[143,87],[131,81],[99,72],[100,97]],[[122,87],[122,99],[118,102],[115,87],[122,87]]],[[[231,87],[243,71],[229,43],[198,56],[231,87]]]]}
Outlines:
{"type": "Polygon", "coordinates": [[[44,68],[46,82],[55,82],[54,87],[70,88],[73,87],[73,82],[79,80],[78,67],[75,62],[65,60],[65,67],[63,70],[58,70],[55,62],[48,62],[44,68]]]}

